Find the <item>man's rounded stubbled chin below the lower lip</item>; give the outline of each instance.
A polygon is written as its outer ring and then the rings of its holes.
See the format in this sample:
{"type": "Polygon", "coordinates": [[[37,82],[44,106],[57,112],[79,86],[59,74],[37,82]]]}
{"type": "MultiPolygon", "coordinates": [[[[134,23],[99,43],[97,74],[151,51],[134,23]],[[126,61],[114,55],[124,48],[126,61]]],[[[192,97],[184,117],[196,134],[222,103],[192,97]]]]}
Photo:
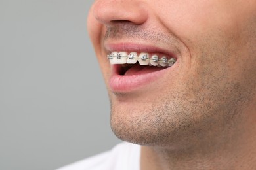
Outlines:
{"type": "Polygon", "coordinates": [[[152,109],[141,112],[140,109],[121,110],[112,107],[110,119],[112,131],[122,141],[142,146],[170,146],[171,143],[174,144],[177,139],[175,131],[179,131],[177,130],[179,124],[175,121],[165,121],[164,116],[160,116],[160,112],[154,114],[152,112],[154,112],[152,109]]]}

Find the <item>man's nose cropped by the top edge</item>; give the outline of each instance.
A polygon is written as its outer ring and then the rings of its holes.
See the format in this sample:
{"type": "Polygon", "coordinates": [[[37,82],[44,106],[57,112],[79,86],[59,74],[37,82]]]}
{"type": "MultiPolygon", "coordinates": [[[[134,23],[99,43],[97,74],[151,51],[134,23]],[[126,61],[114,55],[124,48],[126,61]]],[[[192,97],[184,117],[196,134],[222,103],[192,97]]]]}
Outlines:
{"type": "Polygon", "coordinates": [[[140,25],[148,18],[146,4],[141,0],[97,0],[93,5],[93,15],[107,26],[117,22],[140,25]]]}

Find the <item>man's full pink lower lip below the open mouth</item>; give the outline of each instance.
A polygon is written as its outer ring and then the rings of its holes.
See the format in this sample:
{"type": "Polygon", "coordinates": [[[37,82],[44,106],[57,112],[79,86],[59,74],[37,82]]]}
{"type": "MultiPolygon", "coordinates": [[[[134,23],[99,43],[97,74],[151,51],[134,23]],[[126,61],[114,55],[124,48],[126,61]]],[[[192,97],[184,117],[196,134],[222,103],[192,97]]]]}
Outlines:
{"type": "MultiPolygon", "coordinates": [[[[142,73],[137,75],[119,75],[119,65],[112,65],[112,76],[110,77],[110,89],[113,92],[130,92],[132,90],[139,89],[143,86],[152,84],[158,78],[165,75],[165,73],[172,67],[161,69],[159,71],[153,71],[150,73],[142,73]]],[[[154,67],[154,66],[152,66],[154,67]]]]}

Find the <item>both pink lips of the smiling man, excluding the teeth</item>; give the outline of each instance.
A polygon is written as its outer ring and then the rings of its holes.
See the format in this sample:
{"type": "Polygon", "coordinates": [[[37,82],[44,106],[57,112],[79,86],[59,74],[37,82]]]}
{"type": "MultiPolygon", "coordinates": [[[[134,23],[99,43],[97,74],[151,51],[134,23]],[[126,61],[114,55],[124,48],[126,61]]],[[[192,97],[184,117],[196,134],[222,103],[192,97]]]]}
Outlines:
{"type": "MultiPolygon", "coordinates": [[[[148,52],[148,53],[162,53],[167,56],[176,58],[172,52],[168,50],[163,50],[154,46],[141,46],[138,44],[108,44],[106,45],[106,50],[110,52],[148,52]]],[[[176,63],[175,63],[176,65],[176,63]]],[[[138,73],[133,75],[120,75],[121,65],[112,65],[112,75],[110,76],[109,86],[113,92],[130,92],[136,90],[142,86],[147,86],[152,82],[155,82],[163,76],[167,71],[173,69],[175,65],[167,68],[156,68],[154,66],[146,69],[139,69],[138,73]],[[154,71],[154,69],[156,71],[154,71]]],[[[133,67],[136,67],[133,66],[133,67]]],[[[137,67],[140,67],[137,65],[137,67]]]]}

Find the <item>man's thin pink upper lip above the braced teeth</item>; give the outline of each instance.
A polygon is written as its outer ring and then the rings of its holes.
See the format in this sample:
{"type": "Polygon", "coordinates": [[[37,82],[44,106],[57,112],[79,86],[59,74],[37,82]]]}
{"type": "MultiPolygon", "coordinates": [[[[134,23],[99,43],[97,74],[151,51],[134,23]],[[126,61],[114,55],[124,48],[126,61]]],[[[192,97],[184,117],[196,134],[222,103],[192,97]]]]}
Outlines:
{"type": "Polygon", "coordinates": [[[110,52],[148,52],[148,53],[161,53],[167,54],[173,58],[177,58],[177,52],[172,49],[164,49],[158,46],[148,44],[135,44],[135,43],[119,43],[119,44],[105,44],[106,50],[110,52]]]}

